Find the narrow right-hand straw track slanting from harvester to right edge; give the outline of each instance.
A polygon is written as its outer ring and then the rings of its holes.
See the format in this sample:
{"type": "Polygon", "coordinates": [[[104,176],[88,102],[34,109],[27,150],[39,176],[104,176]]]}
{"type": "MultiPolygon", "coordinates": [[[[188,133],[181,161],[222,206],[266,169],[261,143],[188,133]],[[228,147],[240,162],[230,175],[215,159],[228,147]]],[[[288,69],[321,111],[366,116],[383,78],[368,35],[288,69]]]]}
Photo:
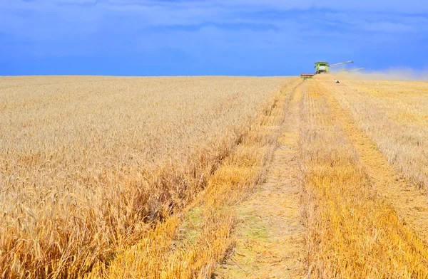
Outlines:
{"type": "MultiPolygon", "coordinates": [[[[336,85],[336,84],[332,84],[336,85]]],[[[347,137],[354,145],[359,155],[360,162],[370,178],[370,182],[377,194],[387,199],[392,204],[400,219],[411,226],[425,243],[428,243],[428,200],[426,192],[418,189],[403,174],[397,172],[387,157],[379,151],[376,144],[365,132],[355,125],[350,111],[340,105],[340,98],[345,99],[347,88],[318,84],[326,94],[333,114],[347,137]]]]}

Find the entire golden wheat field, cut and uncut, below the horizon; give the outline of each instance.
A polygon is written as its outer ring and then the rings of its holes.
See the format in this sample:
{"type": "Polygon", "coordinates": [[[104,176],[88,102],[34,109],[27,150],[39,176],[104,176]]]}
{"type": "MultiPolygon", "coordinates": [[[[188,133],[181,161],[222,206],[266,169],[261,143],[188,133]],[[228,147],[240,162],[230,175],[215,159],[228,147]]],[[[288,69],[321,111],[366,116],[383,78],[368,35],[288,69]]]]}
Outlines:
{"type": "Polygon", "coordinates": [[[428,82],[382,79],[0,78],[0,277],[427,278],[428,82]]]}

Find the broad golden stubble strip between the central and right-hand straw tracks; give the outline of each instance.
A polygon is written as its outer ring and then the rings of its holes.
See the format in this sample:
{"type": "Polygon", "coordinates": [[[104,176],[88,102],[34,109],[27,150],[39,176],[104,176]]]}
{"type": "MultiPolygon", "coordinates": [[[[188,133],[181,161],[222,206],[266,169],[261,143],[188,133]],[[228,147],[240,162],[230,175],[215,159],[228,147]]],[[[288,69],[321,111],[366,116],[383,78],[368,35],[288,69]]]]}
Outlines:
{"type": "MultiPolygon", "coordinates": [[[[357,131],[347,128],[352,123],[330,94],[310,80],[302,113],[310,273],[317,278],[426,278],[427,244],[377,193],[359,158],[367,154],[359,154],[355,137],[347,135],[357,131]]],[[[364,135],[357,137],[370,144],[364,135]]]]}

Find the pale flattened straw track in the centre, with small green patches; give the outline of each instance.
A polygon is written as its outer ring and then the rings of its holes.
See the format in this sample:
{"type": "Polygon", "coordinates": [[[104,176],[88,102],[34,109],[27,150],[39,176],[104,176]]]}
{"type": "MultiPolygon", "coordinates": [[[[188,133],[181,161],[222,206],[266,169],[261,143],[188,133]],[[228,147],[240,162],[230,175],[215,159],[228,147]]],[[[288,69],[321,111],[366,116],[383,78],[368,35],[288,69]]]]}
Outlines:
{"type": "Polygon", "coordinates": [[[299,85],[285,107],[266,181],[238,207],[235,247],[214,278],[302,278],[305,274],[298,162],[301,98],[299,85]]]}

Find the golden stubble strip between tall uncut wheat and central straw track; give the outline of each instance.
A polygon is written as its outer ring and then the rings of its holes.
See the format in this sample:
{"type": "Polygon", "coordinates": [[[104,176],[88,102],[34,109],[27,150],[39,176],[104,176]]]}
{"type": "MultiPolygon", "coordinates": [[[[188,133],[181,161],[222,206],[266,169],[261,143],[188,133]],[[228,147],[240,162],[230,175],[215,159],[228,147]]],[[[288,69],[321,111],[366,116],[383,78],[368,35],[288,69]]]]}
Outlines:
{"type": "Polygon", "coordinates": [[[233,243],[235,204],[263,180],[293,88],[285,87],[267,113],[253,122],[183,214],[156,226],[108,267],[95,268],[88,278],[210,278],[215,263],[233,243]]]}

